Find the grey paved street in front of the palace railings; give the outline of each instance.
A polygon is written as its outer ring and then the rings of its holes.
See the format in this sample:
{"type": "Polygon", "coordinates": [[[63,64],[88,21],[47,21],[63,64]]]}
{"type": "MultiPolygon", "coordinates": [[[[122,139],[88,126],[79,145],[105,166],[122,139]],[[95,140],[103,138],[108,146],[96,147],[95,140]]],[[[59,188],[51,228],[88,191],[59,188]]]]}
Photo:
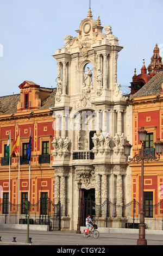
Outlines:
{"type": "MultiPolygon", "coordinates": [[[[27,230],[0,229],[2,242],[0,245],[55,245],[62,250],[64,248],[98,247],[108,248],[111,245],[136,245],[137,234],[100,234],[98,239],[93,237],[85,238],[83,234],[76,234],[75,231],[29,231],[32,243],[27,243],[27,230]],[[16,237],[16,242],[13,241],[16,237]],[[65,247],[64,247],[65,246],[65,247]],[[68,246],[68,247],[67,247],[68,246]],[[71,247],[72,246],[72,247],[71,247]]],[[[163,245],[163,235],[146,234],[147,245],[163,245]]],[[[60,252],[60,251],[58,251],[60,252]]],[[[102,252],[102,251],[101,251],[102,252]]],[[[105,251],[106,252],[106,251],[105,251]]],[[[73,254],[73,252],[72,252],[73,254]]]]}

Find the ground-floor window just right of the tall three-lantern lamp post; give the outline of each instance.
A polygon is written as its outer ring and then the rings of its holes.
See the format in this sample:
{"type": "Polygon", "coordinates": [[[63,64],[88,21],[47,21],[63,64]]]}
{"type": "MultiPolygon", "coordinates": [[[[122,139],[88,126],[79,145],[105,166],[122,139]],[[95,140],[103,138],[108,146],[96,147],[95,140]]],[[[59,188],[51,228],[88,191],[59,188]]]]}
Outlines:
{"type": "Polygon", "coordinates": [[[153,218],[153,192],[144,192],[145,217],[153,218]]]}

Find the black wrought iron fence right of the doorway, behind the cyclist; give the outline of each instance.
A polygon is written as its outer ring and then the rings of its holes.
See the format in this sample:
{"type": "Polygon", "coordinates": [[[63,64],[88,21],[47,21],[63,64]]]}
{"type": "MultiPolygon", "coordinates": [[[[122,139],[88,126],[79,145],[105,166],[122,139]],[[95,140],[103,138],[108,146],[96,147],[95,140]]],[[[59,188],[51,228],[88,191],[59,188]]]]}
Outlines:
{"type": "MultiPolygon", "coordinates": [[[[87,214],[90,213],[98,227],[108,228],[139,228],[140,203],[135,199],[128,204],[113,204],[106,199],[96,204],[91,197],[80,199],[80,225],[85,225],[87,214]]],[[[163,200],[155,205],[145,205],[146,229],[163,230],[163,200]],[[151,212],[151,216],[147,213],[151,212]],[[148,216],[148,217],[147,217],[148,216]]]]}

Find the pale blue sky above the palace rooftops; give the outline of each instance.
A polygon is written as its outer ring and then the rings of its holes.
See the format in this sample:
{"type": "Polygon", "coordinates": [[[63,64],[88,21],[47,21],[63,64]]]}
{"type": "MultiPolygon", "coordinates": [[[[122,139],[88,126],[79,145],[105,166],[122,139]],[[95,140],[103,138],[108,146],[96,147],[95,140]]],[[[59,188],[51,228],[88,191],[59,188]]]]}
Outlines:
{"type": "MultiPolygon", "coordinates": [[[[20,93],[25,80],[57,87],[52,54],[67,34],[77,36],[89,5],[90,0],[0,0],[0,96],[20,93]]],[[[130,86],[135,68],[140,74],[143,59],[146,67],[151,63],[155,44],[163,57],[163,0],[91,0],[91,10],[123,46],[117,61],[121,86],[130,86]]]]}

